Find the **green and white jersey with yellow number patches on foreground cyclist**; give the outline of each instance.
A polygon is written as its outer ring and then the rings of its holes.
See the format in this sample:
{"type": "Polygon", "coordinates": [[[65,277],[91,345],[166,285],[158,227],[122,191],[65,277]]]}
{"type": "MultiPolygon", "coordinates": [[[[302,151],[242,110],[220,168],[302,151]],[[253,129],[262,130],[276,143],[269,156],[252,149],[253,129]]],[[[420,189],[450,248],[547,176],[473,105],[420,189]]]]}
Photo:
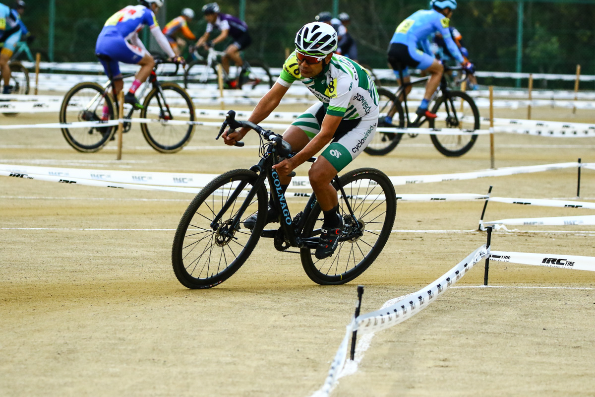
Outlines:
{"type": "Polygon", "coordinates": [[[378,92],[368,72],[342,55],[333,58],[317,77],[302,77],[295,51],[283,64],[277,83],[290,87],[300,80],[322,102],[326,114],[344,120],[378,121],[378,92]]]}

